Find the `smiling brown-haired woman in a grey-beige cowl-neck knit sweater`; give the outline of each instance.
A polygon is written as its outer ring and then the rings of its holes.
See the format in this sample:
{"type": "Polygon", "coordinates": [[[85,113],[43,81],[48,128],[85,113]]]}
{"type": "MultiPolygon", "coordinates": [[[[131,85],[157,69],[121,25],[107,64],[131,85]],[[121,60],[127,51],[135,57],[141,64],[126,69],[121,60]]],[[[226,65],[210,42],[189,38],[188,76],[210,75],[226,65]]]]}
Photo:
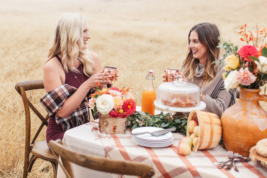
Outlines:
{"type": "Polygon", "coordinates": [[[178,74],[183,76],[183,81],[199,86],[201,101],[206,103],[204,111],[221,117],[225,109],[235,104],[236,91],[227,92],[224,88],[222,73],[225,70],[222,63],[218,63],[223,59],[220,58],[220,48],[217,48],[219,36],[220,32],[213,23],[193,26],[188,35],[188,53],[178,74]]]}

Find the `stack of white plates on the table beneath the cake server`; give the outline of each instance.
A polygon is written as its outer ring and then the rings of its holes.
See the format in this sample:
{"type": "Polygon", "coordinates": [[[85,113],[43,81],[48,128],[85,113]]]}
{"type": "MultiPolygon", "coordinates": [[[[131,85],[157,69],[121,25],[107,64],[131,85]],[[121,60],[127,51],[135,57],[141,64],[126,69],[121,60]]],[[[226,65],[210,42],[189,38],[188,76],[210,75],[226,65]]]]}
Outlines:
{"type": "MultiPolygon", "coordinates": [[[[138,132],[154,132],[163,130],[163,128],[158,127],[139,127],[132,130],[132,133],[138,132]]],[[[145,147],[152,147],[152,148],[160,148],[160,147],[167,147],[173,144],[173,135],[171,132],[160,136],[152,136],[149,133],[140,134],[140,135],[133,135],[133,141],[136,144],[145,146],[145,147]]]]}

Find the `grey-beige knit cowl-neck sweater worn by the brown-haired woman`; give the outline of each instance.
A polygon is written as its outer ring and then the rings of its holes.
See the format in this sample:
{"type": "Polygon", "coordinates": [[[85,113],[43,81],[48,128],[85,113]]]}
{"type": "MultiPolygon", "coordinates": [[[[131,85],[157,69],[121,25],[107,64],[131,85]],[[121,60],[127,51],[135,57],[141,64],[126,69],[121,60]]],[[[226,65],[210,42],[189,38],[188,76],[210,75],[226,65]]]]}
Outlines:
{"type": "MultiPolygon", "coordinates": [[[[185,60],[185,58],[182,60],[185,60]]],[[[182,65],[181,63],[181,65],[182,65]]],[[[198,66],[196,67],[196,73],[194,77],[194,84],[199,86],[200,82],[203,80],[204,76],[204,68],[205,65],[198,63],[198,66]]],[[[181,71],[183,71],[185,67],[181,68],[181,71]]],[[[212,80],[212,82],[209,83],[209,85],[205,86],[205,83],[201,87],[201,91],[205,95],[204,103],[206,103],[206,109],[203,111],[207,112],[213,112],[218,117],[222,116],[222,112],[225,111],[228,107],[235,104],[236,101],[236,91],[230,90],[227,92],[224,88],[224,82],[222,79],[222,73],[225,72],[224,69],[222,69],[222,65],[220,65],[217,68],[217,74],[215,78],[212,80]]],[[[185,75],[185,77],[188,77],[188,74],[185,75]]],[[[188,80],[190,83],[193,82],[192,79],[188,80]]]]}

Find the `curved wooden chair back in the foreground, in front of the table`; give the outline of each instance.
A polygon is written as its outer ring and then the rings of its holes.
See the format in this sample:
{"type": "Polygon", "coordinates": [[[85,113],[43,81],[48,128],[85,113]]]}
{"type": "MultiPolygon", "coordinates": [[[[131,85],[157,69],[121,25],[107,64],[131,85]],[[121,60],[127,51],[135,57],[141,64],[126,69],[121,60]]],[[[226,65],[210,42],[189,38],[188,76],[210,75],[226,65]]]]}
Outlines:
{"type": "Polygon", "coordinates": [[[60,139],[56,141],[50,140],[48,145],[55,156],[60,156],[62,163],[61,161],[58,161],[58,163],[61,165],[67,178],[74,178],[74,173],[70,162],[87,167],[89,169],[115,174],[135,175],[142,178],[149,178],[155,174],[152,167],[143,163],[109,160],[77,153],[63,146],[60,139]]]}

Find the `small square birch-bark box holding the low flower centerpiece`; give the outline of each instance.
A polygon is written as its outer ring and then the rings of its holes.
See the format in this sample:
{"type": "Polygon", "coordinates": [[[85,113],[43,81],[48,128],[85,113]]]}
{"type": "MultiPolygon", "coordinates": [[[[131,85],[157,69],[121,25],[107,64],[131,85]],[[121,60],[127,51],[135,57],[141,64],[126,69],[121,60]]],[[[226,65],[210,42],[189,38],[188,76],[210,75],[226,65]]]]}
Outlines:
{"type": "Polygon", "coordinates": [[[125,134],[127,118],[113,118],[99,113],[99,130],[102,134],[125,134]]]}

